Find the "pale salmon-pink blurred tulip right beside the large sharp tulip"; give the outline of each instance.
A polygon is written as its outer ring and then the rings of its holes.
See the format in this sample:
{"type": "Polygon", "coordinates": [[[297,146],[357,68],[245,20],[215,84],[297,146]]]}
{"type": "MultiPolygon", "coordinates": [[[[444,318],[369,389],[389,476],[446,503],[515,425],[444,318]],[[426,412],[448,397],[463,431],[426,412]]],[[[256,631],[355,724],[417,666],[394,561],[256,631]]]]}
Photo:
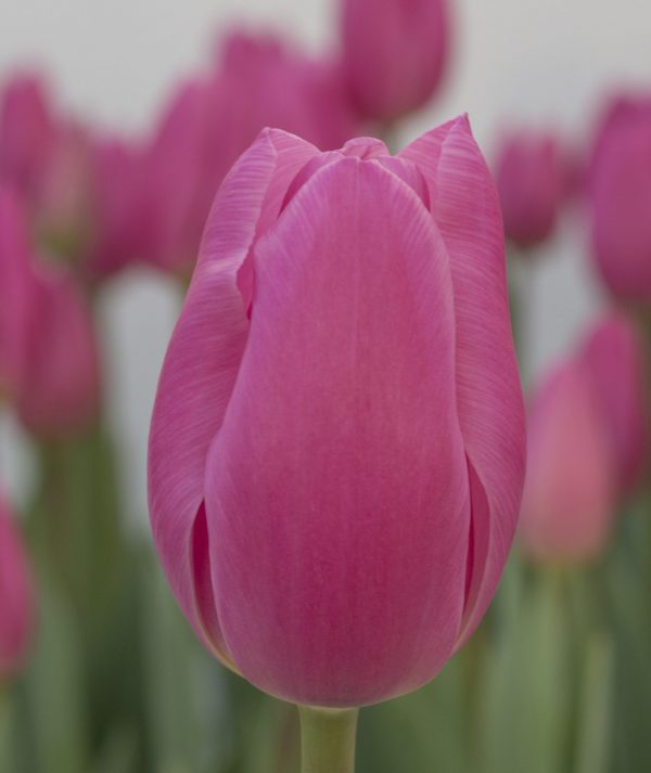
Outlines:
{"type": "Polygon", "coordinates": [[[616,495],[611,438],[591,373],[570,360],[529,410],[520,537],[538,561],[587,561],[608,543],[616,495]]]}

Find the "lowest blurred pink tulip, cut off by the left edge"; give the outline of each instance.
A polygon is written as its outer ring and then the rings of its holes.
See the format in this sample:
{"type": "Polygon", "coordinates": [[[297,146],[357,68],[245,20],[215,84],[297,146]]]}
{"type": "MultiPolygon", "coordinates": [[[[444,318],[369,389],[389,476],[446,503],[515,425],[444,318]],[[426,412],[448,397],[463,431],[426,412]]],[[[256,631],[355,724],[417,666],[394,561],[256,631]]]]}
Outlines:
{"type": "Polygon", "coordinates": [[[27,656],[34,630],[34,598],[27,556],[0,494],[0,684],[27,656]]]}

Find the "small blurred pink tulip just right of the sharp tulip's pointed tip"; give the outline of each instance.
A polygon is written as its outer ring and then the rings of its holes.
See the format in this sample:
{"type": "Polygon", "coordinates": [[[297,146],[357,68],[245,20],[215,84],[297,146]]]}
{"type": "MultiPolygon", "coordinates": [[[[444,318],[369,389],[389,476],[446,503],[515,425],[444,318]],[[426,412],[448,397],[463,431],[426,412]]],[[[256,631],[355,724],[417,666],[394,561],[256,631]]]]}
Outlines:
{"type": "Polygon", "coordinates": [[[556,227],[569,182],[556,139],[525,131],[506,138],[496,180],[507,237],[521,247],[545,242],[556,227]]]}

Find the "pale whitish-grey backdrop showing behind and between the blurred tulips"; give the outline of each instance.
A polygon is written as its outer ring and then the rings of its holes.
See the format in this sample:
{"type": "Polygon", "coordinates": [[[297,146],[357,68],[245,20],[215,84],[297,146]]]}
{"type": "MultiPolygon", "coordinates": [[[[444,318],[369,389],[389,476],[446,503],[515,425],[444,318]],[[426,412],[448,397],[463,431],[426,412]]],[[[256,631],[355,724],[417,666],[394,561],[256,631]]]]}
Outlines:
{"type": "MultiPolygon", "coordinates": [[[[651,4],[646,0],[458,0],[454,61],[444,93],[405,138],[468,111],[490,155],[516,119],[589,137],[603,98],[651,86],[651,4]]],[[[336,0],[0,0],[0,78],[38,63],[63,103],[94,121],[142,130],[169,87],[205,61],[219,29],[244,21],[283,30],[312,50],[336,44],[336,0]]],[[[527,371],[572,345],[603,304],[585,234],[563,224],[524,281],[527,371]]],[[[104,301],[110,410],[128,481],[127,506],[145,517],[145,447],[161,359],[178,308],[151,275],[120,280],[104,301]]],[[[0,476],[21,500],[28,443],[0,420],[0,476]]]]}

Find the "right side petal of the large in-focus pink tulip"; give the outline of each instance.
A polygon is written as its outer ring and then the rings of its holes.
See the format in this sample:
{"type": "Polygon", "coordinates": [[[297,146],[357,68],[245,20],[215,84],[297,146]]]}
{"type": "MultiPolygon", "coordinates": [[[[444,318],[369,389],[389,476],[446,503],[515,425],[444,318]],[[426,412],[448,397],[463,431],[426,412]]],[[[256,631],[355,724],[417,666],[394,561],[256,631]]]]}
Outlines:
{"type": "Polygon", "coordinates": [[[461,645],[495,593],[524,477],[524,407],[509,319],[503,227],[467,117],[424,134],[399,157],[417,164],[427,179],[455,288],[457,401],[471,467],[474,530],[461,645]]]}

